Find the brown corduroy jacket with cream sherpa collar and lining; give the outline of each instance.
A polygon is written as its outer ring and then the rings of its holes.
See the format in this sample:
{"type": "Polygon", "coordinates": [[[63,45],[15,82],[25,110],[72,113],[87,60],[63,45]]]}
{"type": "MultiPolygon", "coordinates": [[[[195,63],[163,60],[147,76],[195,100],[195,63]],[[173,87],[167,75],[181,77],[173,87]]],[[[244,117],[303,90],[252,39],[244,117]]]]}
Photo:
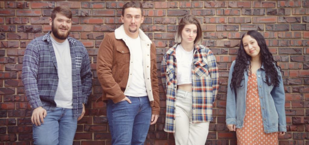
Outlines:
{"type": "MultiPolygon", "coordinates": [[[[143,53],[143,70],[146,90],[152,107],[152,114],[159,115],[159,85],[155,44],[139,29],[143,53]]],[[[104,36],[97,55],[97,76],[103,89],[102,100],[112,99],[114,103],[125,98],[125,89],[132,80],[133,56],[126,45],[123,26],[104,36]]]]}

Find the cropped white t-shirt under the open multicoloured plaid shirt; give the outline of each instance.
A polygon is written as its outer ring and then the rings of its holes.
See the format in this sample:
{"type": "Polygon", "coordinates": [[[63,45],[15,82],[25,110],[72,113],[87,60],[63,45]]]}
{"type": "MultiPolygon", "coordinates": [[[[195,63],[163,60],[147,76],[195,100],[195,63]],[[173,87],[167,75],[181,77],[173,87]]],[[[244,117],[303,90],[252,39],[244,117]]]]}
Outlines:
{"type": "Polygon", "coordinates": [[[192,84],[193,50],[185,51],[181,44],[176,48],[177,85],[192,84]]]}

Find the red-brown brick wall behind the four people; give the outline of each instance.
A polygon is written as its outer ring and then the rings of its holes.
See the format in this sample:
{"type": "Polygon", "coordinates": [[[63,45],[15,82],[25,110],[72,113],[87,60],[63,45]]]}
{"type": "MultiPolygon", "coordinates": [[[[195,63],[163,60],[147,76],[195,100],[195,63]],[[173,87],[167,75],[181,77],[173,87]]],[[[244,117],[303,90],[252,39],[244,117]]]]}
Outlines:
{"type": "MultiPolygon", "coordinates": [[[[74,145],[111,144],[106,104],[95,102],[102,89],[96,76],[96,54],[104,34],[121,25],[121,7],[127,1],[57,0],[0,1],[0,145],[32,144],[31,108],[21,81],[22,59],[27,44],[51,27],[48,17],[55,6],[73,12],[71,36],[83,42],[93,71],[93,91],[86,114],[78,122],[74,145]],[[16,142],[16,143],[14,143],[16,142]]],[[[197,16],[203,29],[203,44],[211,48],[220,69],[220,89],[214,103],[214,121],[207,144],[234,145],[235,132],[225,125],[226,84],[235,60],[239,38],[248,30],[260,31],[284,71],[287,134],[280,144],[309,145],[309,1],[166,1],[145,0],[142,30],[162,55],[171,47],[180,18],[197,16]]],[[[159,71],[159,70],[158,70],[159,71]]],[[[160,81],[161,82],[161,81],[160,81]]],[[[163,88],[160,86],[160,92],[163,88]]],[[[160,94],[161,117],[150,126],[146,144],[173,144],[173,135],[163,131],[165,95],[160,94]]]]}

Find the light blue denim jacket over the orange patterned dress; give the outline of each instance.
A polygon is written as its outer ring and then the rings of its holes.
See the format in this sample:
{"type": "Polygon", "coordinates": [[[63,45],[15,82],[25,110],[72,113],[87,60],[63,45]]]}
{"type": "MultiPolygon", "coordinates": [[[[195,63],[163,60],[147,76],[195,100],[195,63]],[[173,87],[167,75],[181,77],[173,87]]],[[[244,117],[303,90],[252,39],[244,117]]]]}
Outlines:
{"type": "MultiPolygon", "coordinates": [[[[241,87],[236,89],[237,96],[235,97],[234,89],[232,91],[230,87],[234,65],[235,60],[231,65],[227,85],[226,124],[234,124],[236,125],[236,128],[242,128],[246,112],[248,74],[247,71],[244,71],[244,77],[240,82],[241,87]]],[[[284,108],[285,93],[282,76],[278,68],[277,72],[280,76],[279,85],[269,86],[266,83],[264,66],[262,65],[261,68],[256,71],[257,86],[259,91],[265,133],[272,133],[277,131],[286,132],[286,113],[284,108]]]]}

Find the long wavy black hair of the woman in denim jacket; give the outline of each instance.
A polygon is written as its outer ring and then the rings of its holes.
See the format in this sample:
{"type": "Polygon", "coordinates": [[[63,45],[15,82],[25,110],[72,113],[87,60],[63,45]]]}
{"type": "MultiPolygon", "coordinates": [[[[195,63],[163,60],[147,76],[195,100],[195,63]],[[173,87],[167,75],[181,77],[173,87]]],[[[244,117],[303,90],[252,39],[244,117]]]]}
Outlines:
{"type": "Polygon", "coordinates": [[[249,35],[253,39],[256,39],[257,44],[260,47],[260,61],[264,66],[265,74],[266,74],[266,83],[267,85],[278,86],[280,81],[280,76],[277,73],[277,68],[281,71],[280,67],[277,65],[277,61],[273,59],[273,55],[269,52],[268,47],[266,46],[266,41],[258,31],[248,31],[243,34],[240,40],[240,46],[237,52],[237,58],[234,66],[234,71],[232,74],[231,80],[231,89],[236,92],[236,88],[240,87],[240,81],[243,78],[243,72],[246,70],[248,75],[251,75],[251,60],[252,57],[249,56],[245,49],[243,48],[243,37],[249,35]],[[275,64],[275,65],[274,65],[275,64]],[[277,67],[277,68],[275,68],[277,67]]]}

